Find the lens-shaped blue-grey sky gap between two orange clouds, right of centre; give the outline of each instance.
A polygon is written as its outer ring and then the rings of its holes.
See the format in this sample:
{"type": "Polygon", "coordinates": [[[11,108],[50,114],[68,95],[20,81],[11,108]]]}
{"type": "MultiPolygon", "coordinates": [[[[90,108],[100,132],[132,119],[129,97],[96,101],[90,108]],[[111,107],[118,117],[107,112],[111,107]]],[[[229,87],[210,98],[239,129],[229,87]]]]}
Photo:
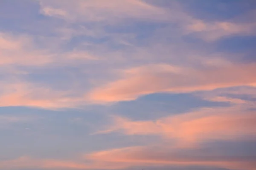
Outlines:
{"type": "Polygon", "coordinates": [[[191,94],[151,94],[136,101],[123,101],[110,107],[113,112],[133,120],[151,120],[187,112],[200,107],[224,107],[224,102],[204,101],[191,94]]]}

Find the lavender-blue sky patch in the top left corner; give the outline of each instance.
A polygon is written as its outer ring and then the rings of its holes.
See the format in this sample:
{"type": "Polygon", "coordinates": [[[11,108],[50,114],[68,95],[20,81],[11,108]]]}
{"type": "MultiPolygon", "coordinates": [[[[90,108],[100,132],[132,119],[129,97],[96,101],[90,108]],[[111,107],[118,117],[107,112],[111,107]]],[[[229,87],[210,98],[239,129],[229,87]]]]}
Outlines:
{"type": "Polygon", "coordinates": [[[50,30],[49,26],[52,29],[52,24],[55,23],[56,26],[59,22],[56,20],[55,22],[50,22],[51,19],[40,14],[39,11],[40,6],[37,1],[1,0],[0,30],[4,32],[12,31],[13,33],[29,32],[30,35],[38,35],[39,33],[47,34],[46,30],[50,30]]]}

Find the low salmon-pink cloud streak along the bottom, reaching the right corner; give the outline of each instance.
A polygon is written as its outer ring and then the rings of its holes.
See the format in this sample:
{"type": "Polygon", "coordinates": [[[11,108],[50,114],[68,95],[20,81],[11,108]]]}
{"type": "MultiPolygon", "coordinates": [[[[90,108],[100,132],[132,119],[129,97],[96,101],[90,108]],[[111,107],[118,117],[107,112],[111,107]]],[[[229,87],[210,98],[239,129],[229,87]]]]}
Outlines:
{"type": "MultiPolygon", "coordinates": [[[[181,150],[179,150],[181,151],[181,150]]],[[[189,150],[185,153],[189,154],[189,150]]],[[[253,160],[236,156],[225,157],[209,155],[180,154],[175,148],[168,147],[127,147],[99,151],[85,156],[87,159],[114,163],[129,163],[131,166],[209,166],[230,168],[234,170],[255,170],[253,160]]]]}

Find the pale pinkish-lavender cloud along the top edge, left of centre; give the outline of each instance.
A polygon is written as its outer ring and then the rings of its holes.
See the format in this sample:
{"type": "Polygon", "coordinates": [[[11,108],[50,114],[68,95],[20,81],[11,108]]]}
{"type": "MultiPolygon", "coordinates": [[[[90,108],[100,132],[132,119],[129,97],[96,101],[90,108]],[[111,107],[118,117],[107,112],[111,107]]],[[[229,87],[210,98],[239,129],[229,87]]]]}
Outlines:
{"type": "Polygon", "coordinates": [[[166,19],[163,9],[141,0],[41,0],[41,13],[73,21],[113,21],[125,18],[166,19]]]}

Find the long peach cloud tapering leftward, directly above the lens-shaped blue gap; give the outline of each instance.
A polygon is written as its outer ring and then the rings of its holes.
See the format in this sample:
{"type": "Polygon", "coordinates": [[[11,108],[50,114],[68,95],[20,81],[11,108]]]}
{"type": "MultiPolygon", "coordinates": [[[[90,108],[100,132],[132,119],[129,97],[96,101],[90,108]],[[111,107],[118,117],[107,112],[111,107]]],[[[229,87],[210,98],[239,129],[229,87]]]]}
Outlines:
{"type": "Polygon", "coordinates": [[[256,83],[256,64],[208,65],[182,68],[167,64],[125,70],[123,78],[93,89],[96,102],[129,101],[157,92],[194,92],[256,83]]]}

